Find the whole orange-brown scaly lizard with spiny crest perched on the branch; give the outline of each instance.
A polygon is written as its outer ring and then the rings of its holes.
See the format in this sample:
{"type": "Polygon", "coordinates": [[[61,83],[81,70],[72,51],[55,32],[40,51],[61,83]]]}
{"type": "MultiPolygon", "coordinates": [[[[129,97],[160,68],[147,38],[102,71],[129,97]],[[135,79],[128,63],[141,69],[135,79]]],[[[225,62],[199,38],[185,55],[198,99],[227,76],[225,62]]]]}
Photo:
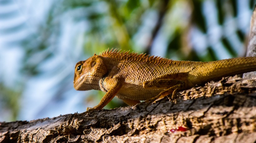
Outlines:
{"type": "MultiPolygon", "coordinates": [[[[88,113],[100,110],[115,96],[128,105],[155,102],[165,96],[222,77],[256,71],[256,56],[199,62],[178,61],[107,49],[75,66],[74,88],[106,92],[88,113]]],[[[147,107],[147,106],[146,106],[147,107]]]]}

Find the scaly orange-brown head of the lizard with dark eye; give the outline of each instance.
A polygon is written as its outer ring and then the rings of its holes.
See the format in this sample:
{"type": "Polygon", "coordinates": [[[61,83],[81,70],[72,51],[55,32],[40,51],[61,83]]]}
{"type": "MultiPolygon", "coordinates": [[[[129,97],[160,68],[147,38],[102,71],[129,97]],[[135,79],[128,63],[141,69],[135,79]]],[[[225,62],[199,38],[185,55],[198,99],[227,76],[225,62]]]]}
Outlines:
{"type": "Polygon", "coordinates": [[[99,81],[106,72],[107,69],[101,56],[94,55],[87,60],[80,61],[75,67],[74,88],[80,91],[99,90],[99,81]]]}

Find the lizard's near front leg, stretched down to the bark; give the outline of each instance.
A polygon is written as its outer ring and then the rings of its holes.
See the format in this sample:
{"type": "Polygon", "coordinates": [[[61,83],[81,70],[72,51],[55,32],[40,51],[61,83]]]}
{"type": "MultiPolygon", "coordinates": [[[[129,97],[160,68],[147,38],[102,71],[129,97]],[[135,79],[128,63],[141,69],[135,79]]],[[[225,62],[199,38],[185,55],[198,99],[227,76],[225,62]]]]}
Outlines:
{"type": "Polygon", "coordinates": [[[108,92],[102,97],[100,103],[93,108],[87,107],[88,114],[91,111],[102,109],[106,106],[117,94],[117,92],[122,87],[121,80],[117,78],[109,79],[109,83],[112,84],[112,87],[108,90],[108,92]]]}

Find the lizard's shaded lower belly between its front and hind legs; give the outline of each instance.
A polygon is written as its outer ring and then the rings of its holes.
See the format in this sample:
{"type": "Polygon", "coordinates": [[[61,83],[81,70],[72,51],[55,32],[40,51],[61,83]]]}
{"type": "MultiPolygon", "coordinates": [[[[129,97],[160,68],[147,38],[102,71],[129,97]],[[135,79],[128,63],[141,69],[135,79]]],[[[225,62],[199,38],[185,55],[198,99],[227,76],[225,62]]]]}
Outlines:
{"type": "Polygon", "coordinates": [[[152,97],[157,96],[162,90],[157,89],[144,89],[143,87],[140,89],[134,88],[123,88],[117,93],[116,97],[119,99],[132,99],[145,101],[152,97]]]}

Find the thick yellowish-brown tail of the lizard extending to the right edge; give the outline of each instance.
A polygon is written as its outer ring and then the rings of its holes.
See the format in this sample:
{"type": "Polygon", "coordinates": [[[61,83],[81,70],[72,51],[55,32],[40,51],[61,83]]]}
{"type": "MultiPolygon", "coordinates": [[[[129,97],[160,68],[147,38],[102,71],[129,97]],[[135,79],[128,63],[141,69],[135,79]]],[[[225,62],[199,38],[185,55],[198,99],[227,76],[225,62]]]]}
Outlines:
{"type": "Polygon", "coordinates": [[[256,56],[203,62],[191,71],[190,77],[194,79],[190,81],[195,85],[251,71],[256,71],[256,56]]]}

